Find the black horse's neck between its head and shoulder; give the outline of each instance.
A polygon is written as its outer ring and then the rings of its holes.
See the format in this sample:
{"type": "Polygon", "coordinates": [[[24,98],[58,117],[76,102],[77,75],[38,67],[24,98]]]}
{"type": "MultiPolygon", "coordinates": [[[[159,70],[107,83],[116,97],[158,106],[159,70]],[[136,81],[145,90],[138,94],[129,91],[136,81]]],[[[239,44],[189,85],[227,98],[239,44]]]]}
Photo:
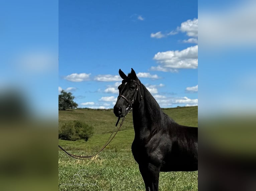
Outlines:
{"type": "Polygon", "coordinates": [[[140,86],[143,99],[132,106],[133,126],[135,134],[145,134],[145,131],[152,131],[155,128],[154,124],[161,121],[161,108],[148,92],[144,85],[140,86]]]}

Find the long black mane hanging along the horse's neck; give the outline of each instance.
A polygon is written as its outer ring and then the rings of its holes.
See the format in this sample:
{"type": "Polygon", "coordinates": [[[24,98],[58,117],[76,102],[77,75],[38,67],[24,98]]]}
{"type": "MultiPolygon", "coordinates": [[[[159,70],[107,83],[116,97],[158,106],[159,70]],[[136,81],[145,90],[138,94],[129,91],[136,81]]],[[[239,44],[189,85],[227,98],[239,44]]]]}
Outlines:
{"type": "MultiPolygon", "coordinates": [[[[128,74],[127,80],[132,79],[131,73],[128,74]]],[[[147,90],[147,88],[140,82],[138,78],[135,80],[138,80],[139,83],[142,85],[142,88],[144,92],[144,103],[145,108],[148,110],[147,118],[151,123],[152,131],[168,131],[170,127],[174,127],[177,123],[170,118],[167,114],[165,114],[155,98],[150,94],[150,92],[147,90]]]]}

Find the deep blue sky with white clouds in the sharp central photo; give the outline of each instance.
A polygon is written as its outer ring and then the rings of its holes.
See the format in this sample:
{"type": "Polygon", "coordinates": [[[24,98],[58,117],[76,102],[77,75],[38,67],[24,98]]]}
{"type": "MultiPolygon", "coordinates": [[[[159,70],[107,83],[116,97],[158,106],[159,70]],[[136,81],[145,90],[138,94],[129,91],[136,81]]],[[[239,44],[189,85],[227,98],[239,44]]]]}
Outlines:
{"type": "Polygon", "coordinates": [[[161,107],[198,104],[197,1],[59,1],[59,91],[112,108],[121,69],[161,107]]]}

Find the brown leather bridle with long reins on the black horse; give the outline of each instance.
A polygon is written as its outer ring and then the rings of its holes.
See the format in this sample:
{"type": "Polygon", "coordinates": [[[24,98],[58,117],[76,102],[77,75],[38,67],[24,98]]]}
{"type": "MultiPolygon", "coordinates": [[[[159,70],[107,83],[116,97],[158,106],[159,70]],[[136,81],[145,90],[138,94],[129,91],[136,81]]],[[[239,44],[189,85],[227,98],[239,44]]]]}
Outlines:
{"type": "MultiPolygon", "coordinates": [[[[124,122],[125,116],[126,116],[128,113],[130,113],[130,112],[132,111],[132,104],[133,104],[134,101],[135,101],[135,97],[136,97],[137,93],[139,92],[139,94],[138,94],[139,102],[140,102],[140,99],[143,98],[142,95],[141,95],[141,91],[140,91],[139,80],[138,80],[138,81],[129,80],[129,81],[135,82],[135,83],[137,84],[137,89],[136,89],[136,92],[135,92],[135,94],[134,94],[134,96],[133,96],[133,99],[132,99],[131,101],[129,101],[124,95],[118,95],[118,97],[124,98],[124,99],[129,103],[129,106],[125,109],[125,114],[124,114],[124,116],[123,116],[123,119],[122,119],[122,121],[121,121],[121,123],[120,123],[120,126],[118,127],[116,133],[114,134],[115,128],[117,127],[117,124],[118,124],[118,122],[119,122],[119,120],[120,120],[120,117],[118,117],[118,120],[117,120],[117,122],[116,122],[116,125],[115,125],[115,127],[114,127],[114,129],[113,129],[111,135],[109,136],[107,142],[105,143],[105,145],[104,145],[96,154],[90,155],[90,156],[80,156],[80,155],[75,155],[75,154],[69,153],[68,151],[66,151],[65,149],[63,149],[60,145],[58,145],[58,147],[59,147],[61,150],[63,150],[65,153],[67,153],[69,156],[71,156],[71,157],[73,157],[73,158],[76,158],[76,159],[79,159],[79,160],[89,159],[89,158],[92,158],[92,157],[96,156],[97,154],[99,154],[99,153],[112,141],[112,139],[116,136],[117,132],[119,131],[119,129],[121,128],[121,126],[122,126],[122,124],[123,124],[123,122],[124,122]],[[112,137],[113,134],[114,134],[114,136],[112,137]],[[111,137],[112,137],[112,138],[111,138],[111,137]]],[[[126,83],[126,82],[127,82],[127,80],[123,80],[123,81],[122,81],[122,84],[123,84],[123,83],[126,83]]],[[[118,98],[118,97],[117,97],[117,98],[118,98]]]]}

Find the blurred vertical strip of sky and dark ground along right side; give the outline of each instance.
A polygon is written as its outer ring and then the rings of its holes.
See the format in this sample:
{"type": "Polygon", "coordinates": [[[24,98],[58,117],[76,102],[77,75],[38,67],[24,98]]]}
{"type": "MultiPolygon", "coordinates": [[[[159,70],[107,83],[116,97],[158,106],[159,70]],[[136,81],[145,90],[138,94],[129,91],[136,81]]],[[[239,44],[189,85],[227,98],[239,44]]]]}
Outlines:
{"type": "Polygon", "coordinates": [[[199,189],[256,189],[256,2],[198,1],[199,189]]]}

